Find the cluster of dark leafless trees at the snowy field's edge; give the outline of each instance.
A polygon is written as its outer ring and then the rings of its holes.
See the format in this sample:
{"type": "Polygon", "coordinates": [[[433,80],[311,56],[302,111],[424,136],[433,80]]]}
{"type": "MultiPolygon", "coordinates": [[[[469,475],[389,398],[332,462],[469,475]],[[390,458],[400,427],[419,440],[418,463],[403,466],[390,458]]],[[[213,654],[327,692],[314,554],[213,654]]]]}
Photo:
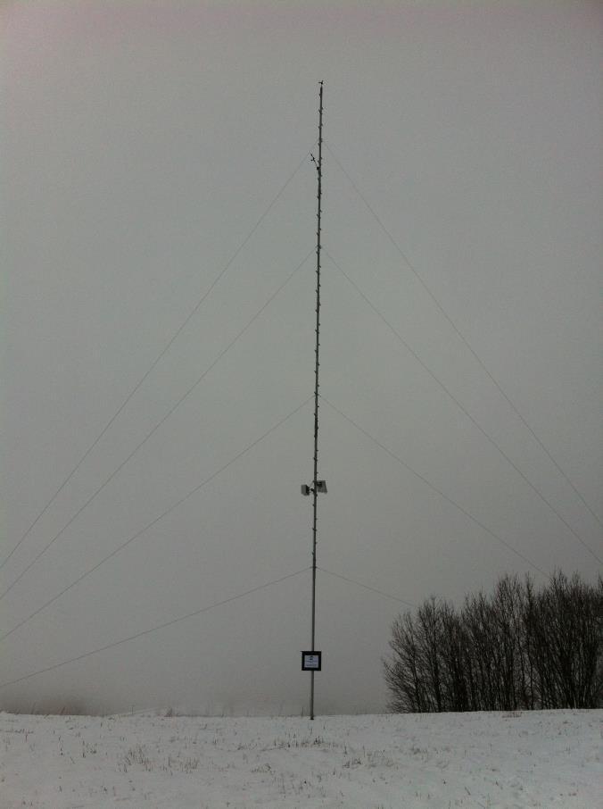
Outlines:
{"type": "Polygon", "coordinates": [[[593,708],[603,698],[603,580],[502,577],[460,609],[431,597],[392,624],[395,712],[593,708]]]}

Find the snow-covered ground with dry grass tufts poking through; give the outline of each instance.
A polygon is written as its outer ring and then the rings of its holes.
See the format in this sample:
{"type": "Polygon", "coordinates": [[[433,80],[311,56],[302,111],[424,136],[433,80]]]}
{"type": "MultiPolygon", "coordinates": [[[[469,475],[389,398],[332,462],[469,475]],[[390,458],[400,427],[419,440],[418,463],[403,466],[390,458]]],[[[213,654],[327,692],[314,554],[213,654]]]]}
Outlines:
{"type": "Polygon", "coordinates": [[[603,805],[603,711],[302,718],[0,713],[0,806],[603,805]]]}

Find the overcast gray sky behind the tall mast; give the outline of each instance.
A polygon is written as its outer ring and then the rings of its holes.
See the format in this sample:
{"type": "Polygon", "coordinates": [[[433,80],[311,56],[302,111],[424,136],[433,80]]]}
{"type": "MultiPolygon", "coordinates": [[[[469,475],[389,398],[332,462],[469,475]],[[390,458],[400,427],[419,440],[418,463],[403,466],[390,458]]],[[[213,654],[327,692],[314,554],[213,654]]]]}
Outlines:
{"type": "MultiPolygon", "coordinates": [[[[310,565],[319,79],[318,713],[384,709],[394,598],[594,580],[599,3],[0,8],[1,683],[310,565]]],[[[295,712],[309,645],[306,571],[0,705],[295,712]]]]}

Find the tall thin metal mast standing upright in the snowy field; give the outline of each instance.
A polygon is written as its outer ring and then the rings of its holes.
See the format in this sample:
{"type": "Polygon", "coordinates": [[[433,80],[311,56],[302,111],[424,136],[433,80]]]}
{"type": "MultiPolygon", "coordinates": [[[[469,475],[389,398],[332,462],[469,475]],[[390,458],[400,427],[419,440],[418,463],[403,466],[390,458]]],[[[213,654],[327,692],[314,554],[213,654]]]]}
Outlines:
{"type": "MultiPolygon", "coordinates": [[[[320,351],[320,217],[322,214],[322,96],[323,82],[320,82],[318,110],[318,213],[316,229],[316,363],[314,366],[314,503],[312,516],[312,651],[316,640],[316,541],[317,541],[317,505],[318,505],[318,368],[320,351]]],[[[314,671],[310,672],[310,719],[314,719],[314,671]]]]}

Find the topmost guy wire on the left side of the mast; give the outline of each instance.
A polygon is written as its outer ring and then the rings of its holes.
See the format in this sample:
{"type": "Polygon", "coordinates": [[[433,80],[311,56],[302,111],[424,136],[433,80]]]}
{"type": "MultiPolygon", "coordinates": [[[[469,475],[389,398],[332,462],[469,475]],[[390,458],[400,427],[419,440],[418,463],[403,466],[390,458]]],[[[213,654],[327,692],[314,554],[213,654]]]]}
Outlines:
{"type": "Polygon", "coordinates": [[[33,522],[32,522],[32,523],[29,525],[28,530],[26,530],[26,531],[25,531],[25,533],[22,535],[21,539],[20,539],[20,540],[17,542],[17,544],[16,544],[16,545],[15,545],[15,546],[12,548],[12,551],[10,552],[10,554],[8,554],[7,556],[5,556],[5,557],[4,557],[4,559],[3,559],[2,563],[0,563],[0,570],[1,570],[1,569],[4,567],[4,564],[8,562],[8,560],[11,558],[12,554],[14,554],[14,552],[17,550],[17,548],[18,548],[19,546],[21,546],[21,543],[23,542],[23,540],[24,540],[26,537],[28,537],[28,536],[29,536],[29,534],[31,533],[31,531],[32,531],[32,530],[34,529],[34,527],[37,525],[37,522],[38,522],[38,521],[39,521],[39,520],[40,520],[40,519],[41,519],[41,518],[44,516],[44,514],[45,514],[45,513],[48,511],[48,509],[50,508],[50,506],[51,506],[51,505],[53,505],[53,503],[54,503],[54,501],[56,500],[56,498],[57,498],[57,497],[58,497],[58,496],[61,494],[62,489],[63,489],[63,488],[65,488],[65,486],[67,486],[67,484],[69,483],[69,481],[71,480],[71,478],[72,478],[72,477],[75,475],[75,473],[78,471],[79,467],[80,467],[80,466],[82,465],[82,463],[84,463],[84,461],[87,459],[87,456],[88,456],[88,455],[90,455],[90,453],[93,451],[93,449],[94,449],[94,448],[95,448],[95,446],[98,444],[98,442],[101,440],[101,438],[103,438],[103,436],[104,436],[104,434],[107,432],[107,430],[109,430],[109,429],[112,427],[112,424],[113,424],[113,423],[114,423],[114,421],[116,421],[116,419],[119,417],[120,413],[121,413],[121,412],[124,410],[124,408],[126,407],[126,405],[128,404],[128,402],[130,401],[130,399],[131,399],[131,398],[132,398],[132,397],[133,397],[133,396],[136,394],[136,391],[137,391],[137,390],[138,390],[138,389],[139,389],[139,388],[140,388],[140,387],[141,387],[141,386],[144,384],[145,380],[146,380],[146,379],[147,379],[147,378],[150,376],[150,374],[153,372],[153,370],[155,369],[155,367],[156,367],[156,366],[157,366],[157,365],[158,365],[158,364],[161,362],[161,360],[163,359],[163,357],[165,356],[165,354],[167,354],[167,353],[168,353],[168,351],[169,351],[170,347],[171,347],[171,346],[174,344],[174,342],[175,342],[175,341],[178,339],[178,337],[179,337],[179,336],[180,336],[180,334],[181,334],[181,333],[184,331],[184,329],[186,329],[187,324],[188,324],[188,323],[189,323],[189,322],[192,320],[192,318],[194,317],[194,315],[195,315],[195,314],[196,314],[196,313],[199,311],[200,307],[202,306],[202,304],[203,304],[203,302],[206,300],[206,298],[207,298],[208,296],[210,296],[210,294],[211,294],[212,290],[213,290],[213,289],[216,287],[216,285],[218,284],[219,280],[220,280],[221,278],[223,278],[223,276],[226,274],[226,272],[228,271],[228,269],[229,269],[229,268],[232,266],[232,264],[235,262],[235,260],[238,258],[238,256],[239,256],[239,255],[242,253],[242,251],[243,251],[244,247],[247,245],[247,243],[249,242],[249,240],[252,238],[253,234],[254,234],[254,233],[256,232],[256,230],[257,230],[257,229],[260,227],[260,224],[261,224],[261,223],[262,223],[262,222],[263,222],[263,221],[266,219],[266,217],[268,216],[268,213],[270,213],[270,211],[271,211],[271,210],[272,210],[272,208],[275,206],[275,204],[277,204],[277,201],[280,199],[280,197],[281,197],[281,196],[283,196],[283,194],[285,193],[285,188],[287,188],[287,186],[288,186],[288,185],[291,183],[291,181],[293,180],[293,178],[295,177],[295,175],[297,174],[297,172],[298,172],[298,171],[300,171],[300,169],[302,168],[303,163],[305,163],[305,162],[306,162],[306,160],[308,159],[308,156],[309,156],[309,154],[310,154],[310,151],[311,151],[311,148],[309,149],[309,151],[308,151],[308,152],[306,152],[306,154],[304,154],[304,155],[303,155],[302,160],[301,160],[301,161],[300,161],[300,163],[297,165],[297,167],[294,169],[294,171],[293,171],[293,172],[292,172],[292,173],[289,175],[289,178],[288,178],[288,179],[285,181],[285,184],[284,184],[284,185],[283,185],[283,186],[280,188],[280,190],[278,191],[277,196],[274,196],[274,197],[273,197],[272,202],[270,202],[270,204],[268,204],[268,207],[267,207],[267,208],[264,210],[264,212],[261,214],[261,216],[260,216],[260,218],[258,219],[258,221],[256,221],[256,223],[253,225],[252,229],[249,231],[249,233],[247,234],[247,236],[244,238],[244,240],[241,242],[241,244],[240,244],[240,245],[239,245],[239,246],[236,248],[235,253],[234,253],[234,254],[231,256],[231,258],[230,258],[230,259],[228,259],[228,261],[227,261],[227,263],[225,264],[225,266],[223,267],[223,269],[222,269],[222,270],[219,272],[219,274],[216,276],[216,278],[215,278],[215,279],[212,281],[212,283],[211,283],[211,287],[210,287],[210,288],[209,288],[209,289],[208,289],[206,292],[204,292],[204,293],[203,293],[203,295],[202,295],[202,297],[201,297],[201,298],[200,298],[200,299],[197,301],[197,303],[196,303],[196,304],[194,304],[193,309],[190,311],[190,313],[188,313],[188,315],[186,316],[185,320],[184,320],[184,321],[182,321],[182,323],[180,324],[180,326],[178,327],[178,329],[177,329],[177,330],[174,332],[174,334],[172,335],[172,337],[171,337],[171,338],[169,338],[168,343],[167,343],[167,344],[166,344],[166,345],[165,345],[165,346],[164,346],[164,347],[161,349],[160,354],[158,354],[158,355],[157,355],[157,357],[156,357],[156,358],[153,360],[153,363],[151,363],[151,365],[150,365],[150,366],[148,367],[148,369],[145,371],[145,373],[143,374],[143,376],[142,376],[142,377],[141,377],[141,378],[140,378],[140,379],[139,379],[139,380],[136,382],[135,387],[134,387],[134,388],[132,388],[132,390],[131,390],[131,391],[128,393],[128,396],[126,396],[126,398],[124,399],[124,401],[123,401],[123,402],[120,404],[120,407],[119,407],[119,408],[118,408],[118,409],[115,411],[115,413],[113,413],[113,415],[112,415],[111,419],[110,419],[109,421],[107,421],[107,423],[106,423],[106,424],[105,424],[105,426],[103,427],[103,430],[101,430],[101,432],[98,434],[98,436],[96,436],[96,438],[95,438],[95,440],[92,442],[92,444],[91,444],[90,446],[88,446],[88,448],[87,448],[86,452],[84,453],[84,455],[82,455],[82,456],[81,456],[81,458],[79,459],[78,463],[76,463],[76,465],[75,465],[75,466],[73,467],[73,469],[70,471],[69,475],[68,475],[68,476],[65,478],[65,480],[63,480],[63,481],[62,481],[61,486],[60,486],[59,488],[57,488],[57,490],[54,492],[54,495],[53,495],[53,496],[50,498],[50,500],[49,500],[49,501],[46,503],[46,505],[44,506],[44,508],[42,509],[42,511],[41,511],[41,512],[39,512],[39,513],[37,514],[36,519],[35,519],[35,520],[34,520],[34,521],[33,521],[33,522]]]}

